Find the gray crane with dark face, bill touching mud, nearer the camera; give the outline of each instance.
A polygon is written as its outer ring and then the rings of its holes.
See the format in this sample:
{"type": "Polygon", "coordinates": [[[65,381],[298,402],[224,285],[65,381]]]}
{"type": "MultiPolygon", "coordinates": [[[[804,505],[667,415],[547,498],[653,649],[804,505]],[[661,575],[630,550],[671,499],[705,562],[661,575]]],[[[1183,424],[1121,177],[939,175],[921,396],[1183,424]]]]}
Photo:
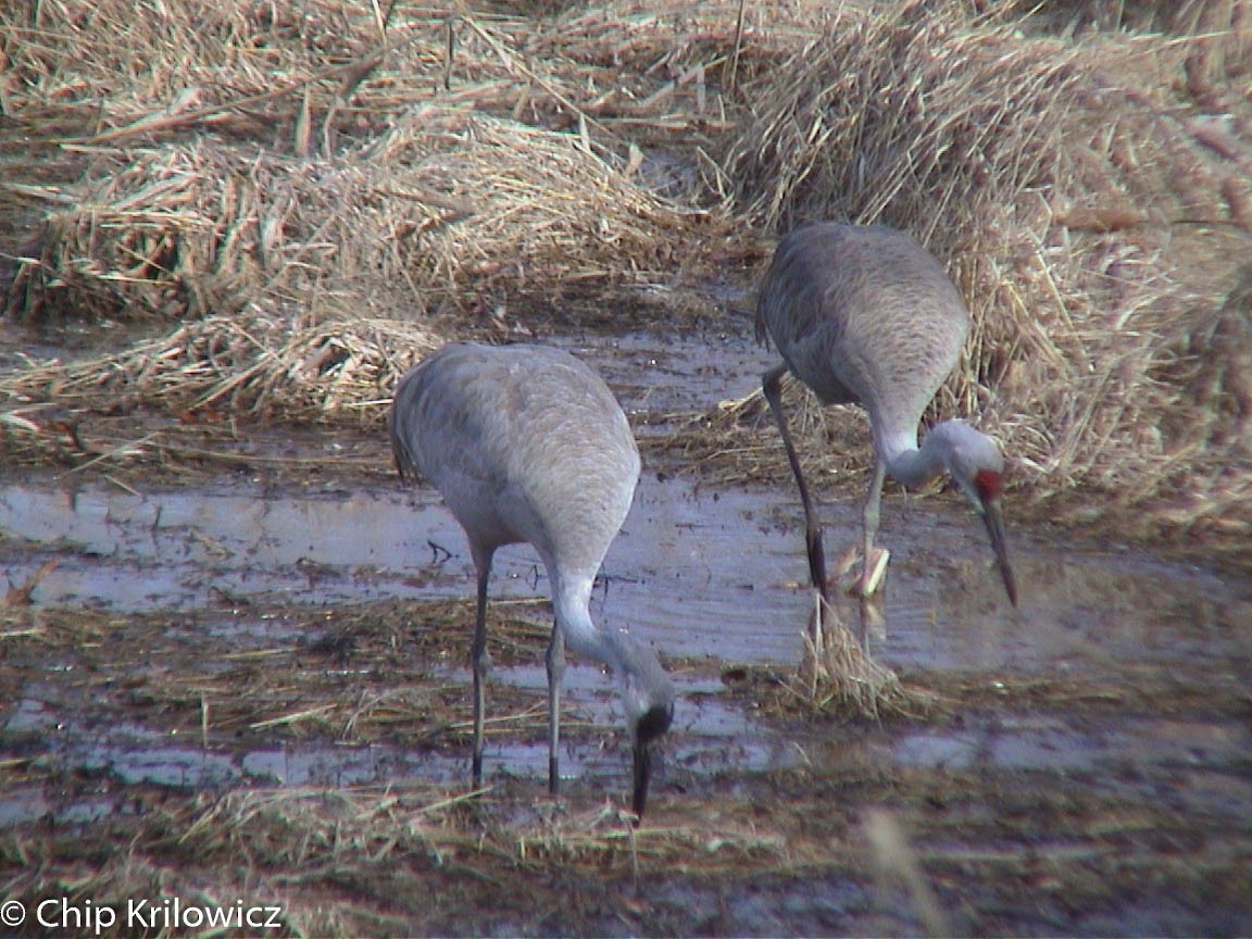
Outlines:
{"type": "Polygon", "coordinates": [[[674,717],[674,685],[652,650],[591,621],[591,588],[630,511],[639,448],[603,381],[560,349],[452,343],[411,368],[388,416],[401,478],[422,476],[464,528],[478,575],[473,781],[482,781],[487,582],[496,548],[530,542],[556,622],[547,650],[548,788],[557,791],[565,646],[616,675],[634,745],[631,805],[647,800],[651,745],[674,717]]]}

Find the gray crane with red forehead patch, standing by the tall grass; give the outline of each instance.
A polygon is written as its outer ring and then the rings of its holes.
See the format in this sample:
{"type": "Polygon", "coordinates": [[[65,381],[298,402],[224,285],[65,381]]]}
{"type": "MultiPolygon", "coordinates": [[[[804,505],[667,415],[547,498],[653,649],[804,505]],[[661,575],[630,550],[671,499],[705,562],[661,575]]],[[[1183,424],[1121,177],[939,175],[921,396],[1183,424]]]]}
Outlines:
{"type": "Polygon", "coordinates": [[[823,403],[859,403],[869,412],[875,468],[863,511],[861,596],[876,587],[871,558],[884,476],[913,487],[947,472],[985,522],[1017,606],[1000,512],[1004,458],[995,441],[958,419],[935,424],[918,447],[921,413],[957,366],[968,333],[960,293],[934,255],[904,232],[813,224],[791,232],[775,250],[756,302],[756,338],[772,338],[782,363],[765,373],[761,389],[800,488],[809,575],[824,597],[821,526],[782,412],[789,369],[823,403]]]}

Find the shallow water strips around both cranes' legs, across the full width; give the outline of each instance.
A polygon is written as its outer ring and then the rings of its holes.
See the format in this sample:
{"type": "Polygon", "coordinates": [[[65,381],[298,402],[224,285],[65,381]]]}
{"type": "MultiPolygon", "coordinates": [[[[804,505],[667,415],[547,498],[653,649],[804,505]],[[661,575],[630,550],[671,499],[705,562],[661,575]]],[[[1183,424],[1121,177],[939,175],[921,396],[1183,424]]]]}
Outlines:
{"type": "MultiPolygon", "coordinates": [[[[798,661],[811,600],[798,582],[806,568],[794,502],[789,491],[719,491],[690,476],[646,473],[606,560],[593,615],[608,627],[631,629],[664,656],[707,659],[715,666],[798,661]]],[[[855,515],[846,507],[826,506],[824,515],[834,522],[829,541],[855,531],[855,515]]],[[[466,597],[473,585],[463,536],[437,496],[398,485],[298,495],[219,485],[136,496],[108,483],[66,491],[25,482],[0,487],[0,528],[11,583],[48,558],[58,561],[34,593],[46,605],[150,612],[203,608],[223,596],[334,605],[466,597]]],[[[888,502],[881,541],[898,547],[885,630],[874,637],[883,661],[909,672],[985,674],[989,680],[997,674],[1092,679],[1134,669],[1208,672],[1228,681],[1248,674],[1247,585],[1131,551],[1073,551],[1035,533],[1014,542],[1023,593],[1014,611],[980,536],[978,521],[952,500],[888,502]]],[[[546,576],[527,546],[497,555],[493,597],[546,591],[546,576]]],[[[243,627],[223,621],[214,629],[243,627]]],[[[265,634],[267,642],[297,639],[277,621],[247,629],[265,634]]],[[[463,679],[468,687],[468,676],[463,679]]],[[[538,662],[497,669],[495,680],[536,691],[546,684],[538,662]]],[[[684,674],[677,680],[686,700],[671,747],[676,765],[760,770],[795,759],[785,741],[719,699],[720,682],[684,674]]],[[[595,724],[615,724],[612,686],[598,669],[571,667],[566,687],[567,700],[587,709],[595,724]]],[[[247,776],[305,785],[377,781],[388,774],[452,780],[462,771],[458,757],[411,759],[351,747],[275,750],[232,761],[138,729],[80,732],[64,716],[40,716],[46,706],[46,696],[34,690],[9,716],[6,735],[60,725],[54,736],[63,760],[106,767],[129,781],[199,786],[247,776]]],[[[1137,732],[1093,739],[1042,720],[919,732],[898,742],[894,759],[934,766],[990,760],[1015,767],[1090,767],[1094,760],[1149,755],[1137,732]]],[[[1152,730],[1153,752],[1168,745],[1158,730],[1152,730]]],[[[1231,762],[1248,752],[1249,742],[1247,734],[1231,731],[1216,734],[1209,745],[1218,762],[1231,762]]],[[[501,745],[488,759],[516,775],[546,772],[540,741],[501,745]]],[[[623,756],[603,760],[608,765],[598,771],[606,774],[625,766],[623,756]]],[[[572,750],[566,770],[598,775],[590,762],[572,750]]]]}

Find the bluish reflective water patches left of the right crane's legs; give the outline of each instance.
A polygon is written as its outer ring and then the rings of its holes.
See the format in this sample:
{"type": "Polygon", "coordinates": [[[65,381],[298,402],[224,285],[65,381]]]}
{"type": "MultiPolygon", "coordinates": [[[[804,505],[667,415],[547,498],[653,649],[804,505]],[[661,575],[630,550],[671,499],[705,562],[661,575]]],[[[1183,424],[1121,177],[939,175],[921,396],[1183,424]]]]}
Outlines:
{"type": "MultiPolygon", "coordinates": [[[[803,625],[808,600],[788,580],[796,560],[791,532],[761,513],[762,498],[766,493],[696,492],[691,480],[646,476],[606,560],[593,596],[596,617],[610,627],[629,626],[670,656],[702,657],[717,649],[729,662],[794,659],[799,632],[780,626],[788,620],[803,625]],[[752,532],[759,557],[744,552],[746,532],[752,532]]],[[[6,532],[4,566],[11,583],[48,560],[58,562],[34,595],[53,606],[154,612],[202,610],[224,598],[333,606],[383,597],[464,597],[473,588],[464,537],[437,496],[398,485],[333,495],[274,495],[248,486],[133,495],[108,483],[70,492],[28,482],[0,487],[0,530],[6,532]]],[[[531,548],[516,546],[497,555],[493,597],[546,592],[546,575],[531,548]]],[[[298,639],[258,623],[255,635],[239,641],[247,647],[298,639]]],[[[448,677],[468,689],[468,674],[448,677]]],[[[495,680],[532,689],[537,700],[546,685],[541,664],[497,667],[495,680]]],[[[732,740],[735,765],[745,759],[757,769],[770,764],[774,744],[754,737],[740,712],[719,704],[710,694],[716,687],[695,677],[684,685],[696,704],[679,715],[686,740],[675,755],[680,764],[725,765],[732,740]]],[[[588,720],[615,724],[612,686],[598,669],[573,665],[566,687],[588,720]]],[[[411,757],[377,749],[285,747],[232,761],[138,727],[79,732],[65,720],[76,710],[73,696],[50,700],[50,687],[31,694],[10,717],[10,736],[61,725],[50,739],[58,741],[64,762],[105,767],[128,782],[202,786],[273,777],[305,785],[378,781],[388,774],[454,780],[463,774],[458,756],[411,757]]],[[[488,756],[513,775],[542,777],[547,771],[538,739],[501,745],[488,756]]],[[[623,771],[622,760],[616,752],[572,747],[563,771],[612,776],[623,771]]]]}

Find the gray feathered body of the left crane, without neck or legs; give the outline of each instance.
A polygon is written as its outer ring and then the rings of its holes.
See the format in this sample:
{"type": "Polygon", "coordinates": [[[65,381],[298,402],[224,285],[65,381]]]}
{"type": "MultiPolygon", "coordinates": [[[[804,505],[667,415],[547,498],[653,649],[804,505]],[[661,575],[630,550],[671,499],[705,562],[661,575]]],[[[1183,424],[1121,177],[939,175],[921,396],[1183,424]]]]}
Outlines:
{"type": "Polygon", "coordinates": [[[598,567],[640,472],[612,392],[545,347],[442,348],[401,379],[391,436],[402,475],[433,483],[472,541],[580,567],[598,567]]]}

